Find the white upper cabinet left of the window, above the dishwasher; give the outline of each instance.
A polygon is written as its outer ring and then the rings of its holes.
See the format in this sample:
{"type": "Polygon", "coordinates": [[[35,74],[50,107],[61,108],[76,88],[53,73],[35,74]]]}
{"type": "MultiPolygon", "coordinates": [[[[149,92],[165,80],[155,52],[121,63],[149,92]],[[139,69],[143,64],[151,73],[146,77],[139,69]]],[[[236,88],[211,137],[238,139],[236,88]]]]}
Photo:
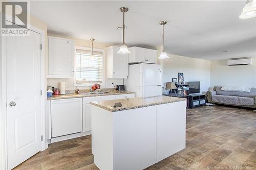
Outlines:
{"type": "Polygon", "coordinates": [[[74,41],[48,37],[48,77],[72,78],[74,76],[74,41]]]}

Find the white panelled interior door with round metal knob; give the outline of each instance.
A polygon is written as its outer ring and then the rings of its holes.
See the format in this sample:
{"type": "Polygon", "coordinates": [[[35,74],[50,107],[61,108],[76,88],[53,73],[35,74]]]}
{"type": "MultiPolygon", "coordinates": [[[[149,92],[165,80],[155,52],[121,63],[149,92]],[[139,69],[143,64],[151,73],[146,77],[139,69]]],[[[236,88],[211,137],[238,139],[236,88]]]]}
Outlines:
{"type": "Polygon", "coordinates": [[[41,150],[41,35],[29,32],[6,37],[8,169],[41,150]]]}

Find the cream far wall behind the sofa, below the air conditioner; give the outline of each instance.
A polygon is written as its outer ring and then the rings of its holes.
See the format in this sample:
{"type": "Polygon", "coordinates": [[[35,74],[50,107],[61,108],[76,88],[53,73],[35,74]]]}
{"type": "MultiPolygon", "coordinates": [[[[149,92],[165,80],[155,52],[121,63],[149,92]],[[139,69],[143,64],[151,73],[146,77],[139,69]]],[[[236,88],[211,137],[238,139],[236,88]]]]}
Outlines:
{"type": "Polygon", "coordinates": [[[210,86],[251,86],[256,87],[256,58],[252,65],[228,66],[227,60],[211,61],[210,86]]]}

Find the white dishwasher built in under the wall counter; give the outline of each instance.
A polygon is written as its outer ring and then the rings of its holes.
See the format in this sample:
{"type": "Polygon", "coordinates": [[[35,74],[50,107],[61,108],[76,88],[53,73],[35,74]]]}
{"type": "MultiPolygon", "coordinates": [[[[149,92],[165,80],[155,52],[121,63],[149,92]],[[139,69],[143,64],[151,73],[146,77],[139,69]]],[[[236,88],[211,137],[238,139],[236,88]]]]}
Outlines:
{"type": "Polygon", "coordinates": [[[51,101],[51,137],[82,131],[82,98],[51,101]]]}

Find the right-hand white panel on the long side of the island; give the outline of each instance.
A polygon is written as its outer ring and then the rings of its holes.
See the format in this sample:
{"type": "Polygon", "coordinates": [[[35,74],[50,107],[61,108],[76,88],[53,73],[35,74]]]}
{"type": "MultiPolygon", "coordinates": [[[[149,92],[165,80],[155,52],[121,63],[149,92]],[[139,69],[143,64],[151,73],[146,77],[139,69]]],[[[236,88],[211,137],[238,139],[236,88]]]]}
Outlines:
{"type": "Polygon", "coordinates": [[[156,162],[186,146],[186,101],[157,105],[156,162]]]}

